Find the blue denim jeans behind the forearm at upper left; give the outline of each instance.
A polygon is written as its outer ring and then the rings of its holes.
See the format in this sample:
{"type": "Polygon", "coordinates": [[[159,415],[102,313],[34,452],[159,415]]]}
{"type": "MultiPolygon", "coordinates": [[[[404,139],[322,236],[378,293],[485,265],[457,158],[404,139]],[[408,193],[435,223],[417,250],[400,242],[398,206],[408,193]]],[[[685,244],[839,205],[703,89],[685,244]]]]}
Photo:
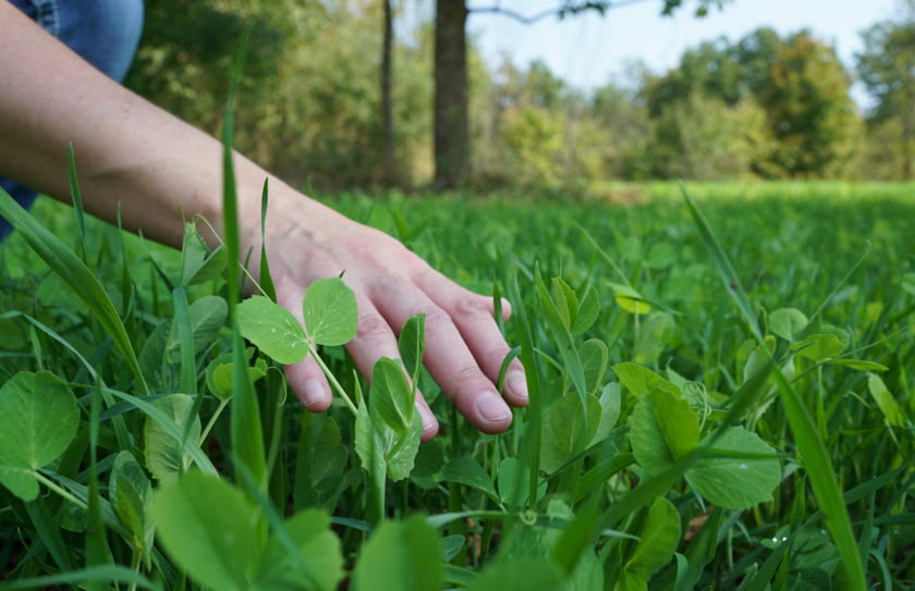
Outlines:
{"type": "MultiPolygon", "coordinates": [[[[143,32],[143,0],[9,1],[109,77],[124,79],[143,32]]],[[[0,176],[0,186],[26,209],[35,201],[34,190],[11,178],[0,176]]],[[[10,232],[0,218],[0,241],[10,232]]]]}

